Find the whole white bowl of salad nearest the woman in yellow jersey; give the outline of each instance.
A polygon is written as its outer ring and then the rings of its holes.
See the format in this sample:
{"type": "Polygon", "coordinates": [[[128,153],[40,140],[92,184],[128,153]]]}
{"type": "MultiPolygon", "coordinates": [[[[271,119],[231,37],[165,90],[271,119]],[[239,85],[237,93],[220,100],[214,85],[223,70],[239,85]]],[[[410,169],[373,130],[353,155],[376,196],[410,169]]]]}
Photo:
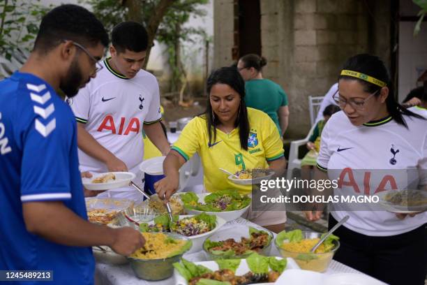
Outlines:
{"type": "Polygon", "coordinates": [[[235,190],[216,191],[214,193],[187,192],[181,194],[181,200],[188,214],[215,214],[217,217],[232,221],[241,217],[249,209],[252,199],[235,190]]]}

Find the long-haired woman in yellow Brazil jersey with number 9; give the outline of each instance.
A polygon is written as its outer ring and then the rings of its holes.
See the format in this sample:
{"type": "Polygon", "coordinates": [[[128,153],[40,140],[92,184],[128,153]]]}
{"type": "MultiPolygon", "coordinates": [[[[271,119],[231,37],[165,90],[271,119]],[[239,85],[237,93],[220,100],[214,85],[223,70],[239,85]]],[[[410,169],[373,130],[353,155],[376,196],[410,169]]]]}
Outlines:
{"type": "MultiPolygon", "coordinates": [[[[232,173],[244,169],[271,168],[284,170],[283,145],[276,125],[260,110],[246,108],[245,82],[236,68],[213,71],[207,80],[207,110],[192,119],[167,154],[163,169],[165,178],[155,184],[160,197],[169,198],[179,186],[183,163],[195,152],[201,159],[204,187],[208,192],[237,189],[250,194],[250,185],[237,185],[219,168],[232,173]]],[[[267,226],[271,231],[283,228],[285,212],[249,211],[248,219],[267,226]]]]}

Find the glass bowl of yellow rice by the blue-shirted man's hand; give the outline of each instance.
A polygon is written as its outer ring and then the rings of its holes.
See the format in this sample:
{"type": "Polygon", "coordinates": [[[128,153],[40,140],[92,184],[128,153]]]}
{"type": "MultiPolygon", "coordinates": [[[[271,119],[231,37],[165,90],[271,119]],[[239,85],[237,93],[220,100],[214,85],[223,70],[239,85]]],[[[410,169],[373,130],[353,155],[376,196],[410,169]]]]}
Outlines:
{"type": "Polygon", "coordinates": [[[163,280],[174,273],[173,263],[185,254],[192,245],[191,240],[176,233],[141,233],[144,247],[128,256],[135,275],[144,280],[163,280]]]}

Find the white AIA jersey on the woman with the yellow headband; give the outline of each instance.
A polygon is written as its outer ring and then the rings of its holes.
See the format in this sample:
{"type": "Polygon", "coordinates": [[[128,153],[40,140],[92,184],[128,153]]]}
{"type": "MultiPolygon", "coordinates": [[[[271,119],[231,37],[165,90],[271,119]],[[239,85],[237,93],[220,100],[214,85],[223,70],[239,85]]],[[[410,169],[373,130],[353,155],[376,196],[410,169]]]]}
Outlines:
{"type": "MultiPolygon", "coordinates": [[[[373,195],[387,189],[403,189],[409,182],[427,184],[427,121],[403,116],[408,129],[391,117],[354,126],[343,111],[334,114],[322,131],[317,168],[337,180],[336,193],[373,195]]],[[[372,205],[372,204],[370,204],[372,205]]],[[[346,211],[335,203],[332,216],[352,231],[370,236],[406,233],[427,222],[427,212],[400,220],[385,210],[346,211]]]]}

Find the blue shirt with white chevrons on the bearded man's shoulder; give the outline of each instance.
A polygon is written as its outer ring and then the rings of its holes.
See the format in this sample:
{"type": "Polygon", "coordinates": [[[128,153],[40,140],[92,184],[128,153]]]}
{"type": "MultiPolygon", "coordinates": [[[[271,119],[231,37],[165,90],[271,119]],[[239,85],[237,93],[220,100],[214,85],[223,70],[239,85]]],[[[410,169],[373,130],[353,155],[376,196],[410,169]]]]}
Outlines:
{"type": "Polygon", "coordinates": [[[52,270],[53,284],[93,284],[91,248],[33,235],[22,215],[22,203],[61,200],[87,219],[78,166],[75,117],[54,89],[29,73],[1,81],[1,270],[52,270]]]}

